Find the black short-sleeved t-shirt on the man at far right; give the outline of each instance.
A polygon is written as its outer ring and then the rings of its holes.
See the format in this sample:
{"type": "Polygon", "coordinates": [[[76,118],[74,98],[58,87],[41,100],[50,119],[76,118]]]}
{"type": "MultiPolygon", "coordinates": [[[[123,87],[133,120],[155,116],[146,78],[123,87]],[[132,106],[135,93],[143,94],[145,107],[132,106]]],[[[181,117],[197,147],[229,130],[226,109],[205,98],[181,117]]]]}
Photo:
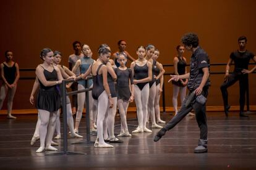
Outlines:
{"type": "Polygon", "coordinates": [[[254,56],[255,55],[250,51],[232,52],[230,59],[234,61],[234,72],[241,72],[243,69],[248,69],[250,59],[254,58],[254,56]]]}

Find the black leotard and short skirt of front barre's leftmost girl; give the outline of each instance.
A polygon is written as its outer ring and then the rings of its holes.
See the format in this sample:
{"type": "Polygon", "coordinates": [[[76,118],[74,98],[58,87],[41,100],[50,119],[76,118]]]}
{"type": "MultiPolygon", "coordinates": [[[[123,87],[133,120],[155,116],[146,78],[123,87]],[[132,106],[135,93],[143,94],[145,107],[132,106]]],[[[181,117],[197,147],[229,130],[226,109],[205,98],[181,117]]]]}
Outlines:
{"type": "MultiPolygon", "coordinates": [[[[43,68],[43,66],[41,67],[43,68]]],[[[43,74],[47,81],[58,81],[58,74],[55,69],[49,72],[43,68],[43,74]]],[[[58,85],[44,86],[40,80],[39,83],[40,89],[36,97],[36,108],[49,112],[59,110],[61,108],[61,95],[58,91],[58,85]]]]}

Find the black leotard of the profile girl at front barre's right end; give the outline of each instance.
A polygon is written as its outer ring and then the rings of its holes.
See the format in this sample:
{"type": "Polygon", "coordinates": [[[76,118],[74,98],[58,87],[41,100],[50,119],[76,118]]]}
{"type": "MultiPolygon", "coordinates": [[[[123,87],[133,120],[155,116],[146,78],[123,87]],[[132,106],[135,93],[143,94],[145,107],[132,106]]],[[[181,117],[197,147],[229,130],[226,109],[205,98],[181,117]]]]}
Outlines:
{"type": "Polygon", "coordinates": [[[99,75],[99,70],[103,64],[99,65],[96,75],[93,76],[93,89],[92,89],[92,97],[95,100],[98,100],[101,93],[105,91],[105,88],[103,86],[103,75],[99,75]]]}

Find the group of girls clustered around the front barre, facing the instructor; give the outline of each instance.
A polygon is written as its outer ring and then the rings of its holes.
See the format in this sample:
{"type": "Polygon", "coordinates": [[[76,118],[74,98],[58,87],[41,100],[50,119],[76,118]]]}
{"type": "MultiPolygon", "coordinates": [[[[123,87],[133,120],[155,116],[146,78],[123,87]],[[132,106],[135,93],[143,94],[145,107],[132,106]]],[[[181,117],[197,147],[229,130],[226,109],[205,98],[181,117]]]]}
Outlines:
{"type": "MultiPolygon", "coordinates": [[[[39,115],[38,123],[31,142],[33,145],[37,139],[40,139],[40,148],[38,148],[36,152],[57,150],[57,148],[51,145],[54,144],[52,138],[55,124],[56,131],[59,132],[60,135],[60,123],[56,121],[56,118],[59,119],[59,108],[61,107],[61,95],[59,94],[58,84],[61,84],[63,78],[75,78],[74,73],[78,68],[80,68],[80,78],[85,79],[87,76],[93,76],[93,81],[88,79],[87,87],[85,87],[86,84],[84,80],[79,80],[78,89],[81,90],[88,87],[92,87],[93,89],[92,92],[89,93],[90,106],[88,107],[90,108],[90,115],[92,115],[90,123],[92,126],[90,129],[91,131],[97,131],[95,147],[113,147],[113,145],[107,144],[106,141],[109,143],[122,142],[114,136],[114,117],[116,115],[117,106],[121,116],[121,131],[118,136],[131,136],[127,127],[126,115],[129,102],[132,102],[134,99],[137,105],[139,126],[135,131],[132,131],[133,133],[151,132],[146,126],[149,117],[152,122],[151,127],[163,127],[156,123],[155,110],[158,123],[165,123],[160,119],[159,108],[164,70],[163,65],[156,62],[160,52],[156,50],[153,45],[150,44],[147,47],[138,47],[137,54],[139,59],[132,62],[130,68],[126,67],[126,53],[117,55],[119,67],[113,65],[114,60],[109,60],[111,51],[106,44],[102,44],[99,47],[99,57],[96,61],[92,59],[92,51],[87,44],[83,44],[82,51],[84,57],[77,60],[72,71],[67,71],[68,69],[66,67],[59,65],[61,60],[60,52],[53,52],[48,48],[41,51],[43,63],[36,67],[36,80],[30,97],[30,102],[34,103],[33,96],[35,95],[36,89],[40,86],[36,97],[36,108],[38,108],[39,115]],[[116,84],[114,81],[116,81],[116,84]],[[148,111],[150,116],[148,116],[148,111]]],[[[70,84],[68,86],[70,86],[70,84]]],[[[71,136],[82,137],[78,133],[85,94],[78,94],[77,101],[79,105],[75,118],[75,128],[72,124],[73,119],[70,100],[67,99],[67,101],[67,122],[71,136]]]]}

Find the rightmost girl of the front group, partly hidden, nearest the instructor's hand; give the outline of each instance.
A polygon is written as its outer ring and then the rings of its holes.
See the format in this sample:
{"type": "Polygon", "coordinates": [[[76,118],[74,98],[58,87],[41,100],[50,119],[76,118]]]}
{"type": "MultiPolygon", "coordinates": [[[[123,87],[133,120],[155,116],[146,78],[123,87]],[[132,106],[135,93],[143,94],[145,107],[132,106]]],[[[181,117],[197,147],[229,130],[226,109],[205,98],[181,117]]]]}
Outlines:
{"type": "Polygon", "coordinates": [[[153,75],[154,78],[156,79],[156,97],[155,97],[155,103],[154,103],[154,108],[155,108],[155,115],[156,115],[156,122],[157,123],[166,123],[165,121],[161,120],[160,118],[160,106],[159,106],[159,101],[160,101],[160,95],[161,92],[163,92],[163,74],[165,70],[163,69],[163,65],[156,60],[158,59],[160,55],[160,52],[158,49],[155,49],[154,54],[152,55],[152,59],[154,62],[156,62],[156,65],[160,67],[154,67],[153,68],[153,75]],[[160,70],[163,70],[160,72],[160,70]]]}

